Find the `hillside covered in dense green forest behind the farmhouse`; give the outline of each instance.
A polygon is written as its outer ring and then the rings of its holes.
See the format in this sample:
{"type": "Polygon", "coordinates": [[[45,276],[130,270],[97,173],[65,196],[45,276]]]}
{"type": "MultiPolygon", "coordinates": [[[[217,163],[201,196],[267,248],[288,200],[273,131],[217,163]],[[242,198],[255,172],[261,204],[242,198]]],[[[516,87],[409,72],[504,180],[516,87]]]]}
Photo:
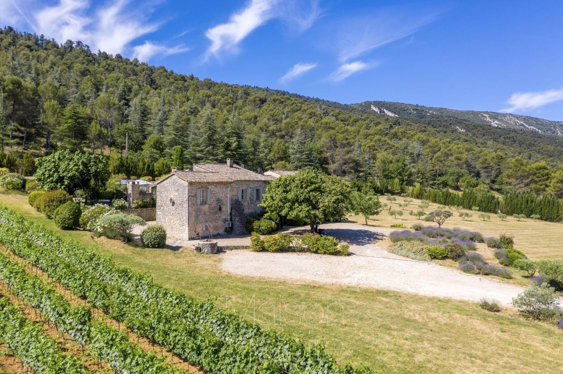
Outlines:
{"type": "Polygon", "coordinates": [[[563,196],[563,137],[364,113],[9,27],[0,30],[0,88],[0,147],[12,155],[0,167],[82,150],[110,156],[112,172],[129,165],[127,174],[158,177],[182,146],[185,165],[232,157],[254,170],[315,166],[390,192],[421,183],[563,196]]]}

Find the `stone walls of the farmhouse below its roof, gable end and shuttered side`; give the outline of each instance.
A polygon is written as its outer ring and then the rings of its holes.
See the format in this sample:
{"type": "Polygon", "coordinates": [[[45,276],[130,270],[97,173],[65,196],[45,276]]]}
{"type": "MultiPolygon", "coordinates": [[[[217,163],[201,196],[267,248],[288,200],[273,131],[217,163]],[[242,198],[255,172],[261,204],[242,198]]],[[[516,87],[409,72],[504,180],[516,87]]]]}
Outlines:
{"type": "Polygon", "coordinates": [[[204,224],[208,224],[214,236],[225,233],[230,208],[233,232],[245,233],[243,215],[262,210],[258,204],[265,188],[264,181],[187,182],[173,173],[156,187],[157,223],[166,228],[170,237],[205,239],[208,232],[203,231],[204,224]],[[204,204],[196,204],[199,189],[208,193],[204,204]]]}

